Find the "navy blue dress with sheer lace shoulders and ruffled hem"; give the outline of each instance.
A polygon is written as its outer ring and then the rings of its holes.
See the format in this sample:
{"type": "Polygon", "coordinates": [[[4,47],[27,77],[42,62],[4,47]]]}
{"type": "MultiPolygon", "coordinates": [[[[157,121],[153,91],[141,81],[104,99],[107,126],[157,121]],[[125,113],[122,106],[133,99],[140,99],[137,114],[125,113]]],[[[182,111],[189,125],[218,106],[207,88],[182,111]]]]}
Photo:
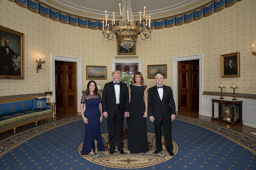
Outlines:
{"type": "Polygon", "coordinates": [[[85,104],[84,115],[88,119],[88,124],[85,123],[85,137],[84,144],[82,147],[81,155],[87,155],[91,152],[95,152],[94,139],[97,140],[98,151],[104,151],[104,144],[100,131],[100,109],[99,104],[101,103],[101,96],[95,96],[89,94],[86,96],[83,94],[81,103],[85,104]]]}

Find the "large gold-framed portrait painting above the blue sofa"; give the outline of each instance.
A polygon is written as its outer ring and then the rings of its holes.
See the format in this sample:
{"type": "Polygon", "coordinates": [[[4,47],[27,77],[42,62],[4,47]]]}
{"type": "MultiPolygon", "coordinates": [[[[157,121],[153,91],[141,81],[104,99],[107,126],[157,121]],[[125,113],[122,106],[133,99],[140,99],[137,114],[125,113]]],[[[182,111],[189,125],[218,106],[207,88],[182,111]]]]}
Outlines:
{"type": "Polygon", "coordinates": [[[24,79],[24,34],[0,26],[0,78],[24,79]]]}

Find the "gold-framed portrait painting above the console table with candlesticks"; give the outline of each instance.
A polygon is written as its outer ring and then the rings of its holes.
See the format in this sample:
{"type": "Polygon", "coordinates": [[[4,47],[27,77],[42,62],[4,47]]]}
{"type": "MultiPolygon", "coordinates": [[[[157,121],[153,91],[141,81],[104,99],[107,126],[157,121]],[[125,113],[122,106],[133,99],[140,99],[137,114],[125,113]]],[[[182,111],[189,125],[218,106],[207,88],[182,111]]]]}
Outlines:
{"type": "Polygon", "coordinates": [[[239,52],[220,55],[221,77],[240,77],[239,52]]]}

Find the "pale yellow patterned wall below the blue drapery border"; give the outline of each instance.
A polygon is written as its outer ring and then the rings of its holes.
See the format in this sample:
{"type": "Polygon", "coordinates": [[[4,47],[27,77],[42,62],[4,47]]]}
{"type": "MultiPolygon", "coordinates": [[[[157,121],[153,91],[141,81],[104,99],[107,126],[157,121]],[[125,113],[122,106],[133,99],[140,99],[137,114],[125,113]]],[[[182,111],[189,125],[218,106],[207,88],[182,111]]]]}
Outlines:
{"type": "MultiPolygon", "coordinates": [[[[115,44],[103,41],[102,31],[62,24],[8,0],[0,4],[0,25],[24,33],[25,40],[25,78],[0,79],[0,96],[45,92],[51,87],[51,55],[82,58],[82,90],[88,82],[86,65],[107,66],[107,80],[101,80],[101,85],[111,81],[111,59],[117,50],[115,44]],[[46,55],[46,63],[36,73],[38,53],[46,55]]],[[[244,0],[189,24],[153,30],[151,41],[136,46],[145,84],[153,86],[153,79],[147,79],[147,65],[167,64],[164,84],[172,86],[172,57],[202,54],[203,91],[219,92],[220,81],[229,87],[235,80],[236,92],[256,94],[256,56],[251,48],[256,44],[255,6],[255,0],[244,0]],[[220,78],[220,55],[233,52],[240,52],[240,77],[220,78]]]]}

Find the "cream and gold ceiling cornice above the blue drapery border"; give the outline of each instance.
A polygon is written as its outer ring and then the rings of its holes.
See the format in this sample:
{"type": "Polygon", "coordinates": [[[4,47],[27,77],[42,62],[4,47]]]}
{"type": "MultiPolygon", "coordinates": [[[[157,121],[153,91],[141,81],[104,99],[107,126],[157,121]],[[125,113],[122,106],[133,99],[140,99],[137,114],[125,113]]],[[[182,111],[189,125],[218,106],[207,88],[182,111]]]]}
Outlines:
{"type": "MultiPolygon", "coordinates": [[[[214,1],[218,1],[218,0],[187,0],[172,6],[167,6],[165,8],[155,9],[155,10],[146,11],[146,12],[147,14],[151,15],[152,21],[162,20],[166,18],[172,18],[174,16],[183,15],[184,13],[189,13],[196,9],[202,8],[203,6],[206,6],[207,4],[214,1]]],[[[97,20],[97,21],[101,21],[105,18],[105,11],[86,8],[74,3],[70,3],[69,1],[36,0],[36,2],[39,2],[40,4],[46,7],[49,7],[54,11],[60,11],[65,14],[70,14],[71,16],[74,16],[74,17],[87,18],[87,19],[97,20]]],[[[147,4],[150,4],[150,3],[147,3],[147,4]]],[[[103,9],[105,10],[105,7],[103,7],[103,9]]],[[[118,7],[117,7],[117,10],[118,10],[118,7]]],[[[109,18],[112,18],[111,14],[109,15],[109,18]]],[[[119,16],[118,14],[119,12],[117,12],[116,16],[119,16]]],[[[139,20],[139,11],[133,10],[133,17],[134,17],[134,20],[139,20]]],[[[116,19],[118,18],[119,17],[116,17],[116,19]]]]}

